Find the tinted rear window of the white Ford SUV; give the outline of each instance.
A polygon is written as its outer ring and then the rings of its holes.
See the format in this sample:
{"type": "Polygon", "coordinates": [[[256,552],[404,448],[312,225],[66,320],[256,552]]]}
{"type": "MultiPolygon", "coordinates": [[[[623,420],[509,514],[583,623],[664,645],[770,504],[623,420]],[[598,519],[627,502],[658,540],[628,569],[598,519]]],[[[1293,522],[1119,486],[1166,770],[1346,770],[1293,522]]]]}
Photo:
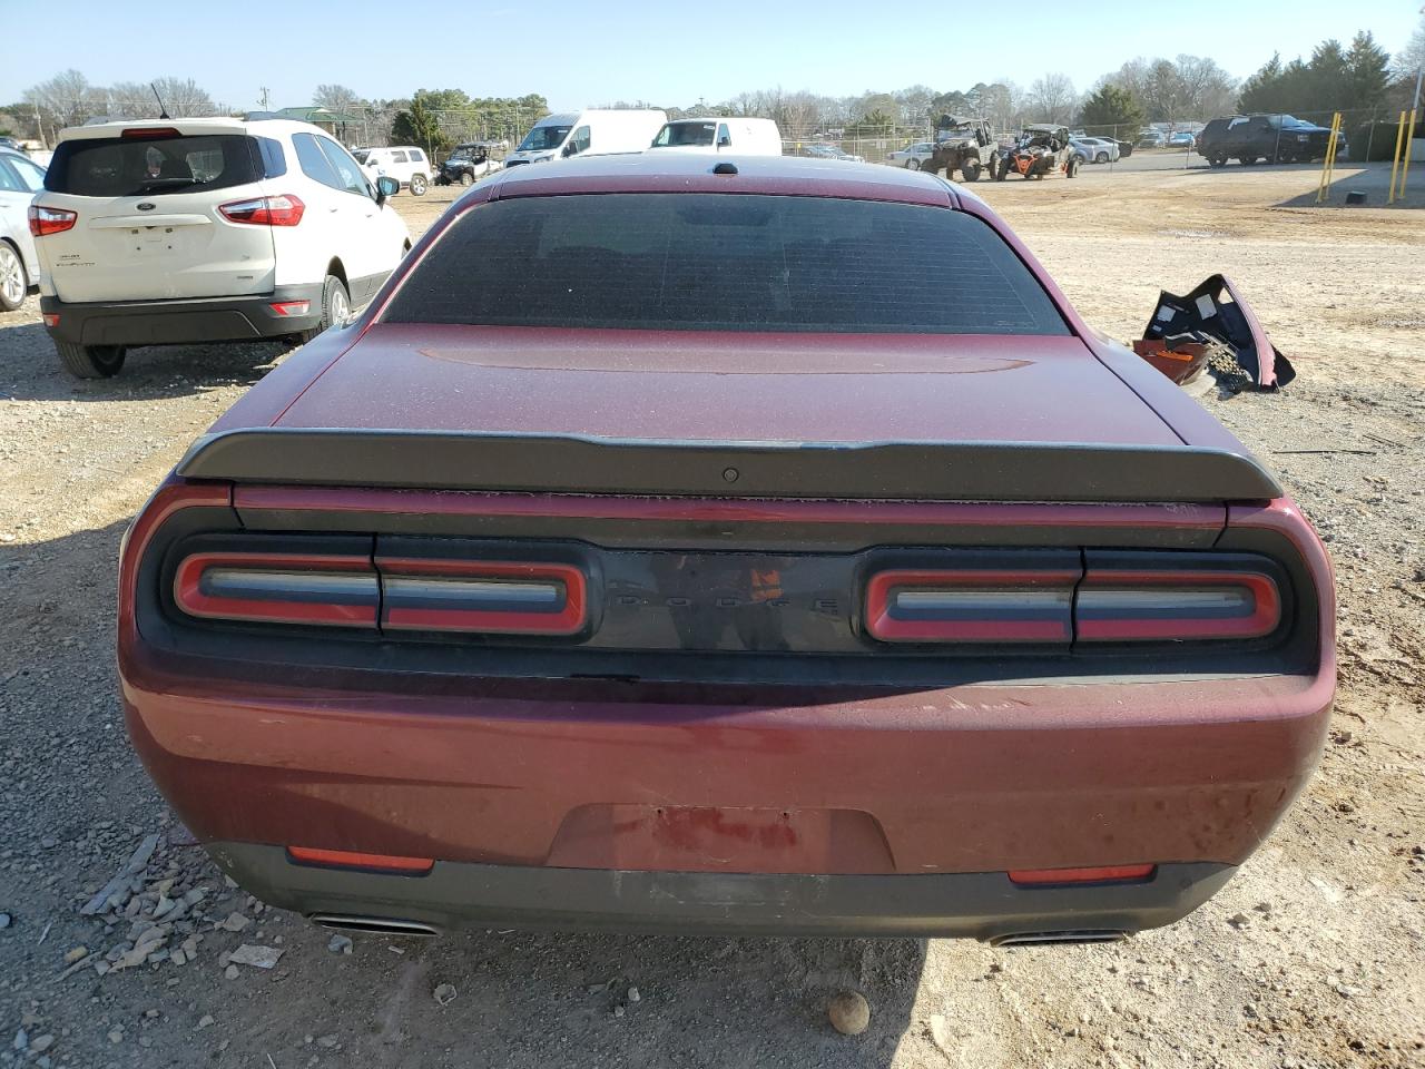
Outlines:
{"type": "Polygon", "coordinates": [[[63,141],[44,188],[77,197],[161,197],[245,185],[262,177],[256,141],[242,134],[63,141]]]}

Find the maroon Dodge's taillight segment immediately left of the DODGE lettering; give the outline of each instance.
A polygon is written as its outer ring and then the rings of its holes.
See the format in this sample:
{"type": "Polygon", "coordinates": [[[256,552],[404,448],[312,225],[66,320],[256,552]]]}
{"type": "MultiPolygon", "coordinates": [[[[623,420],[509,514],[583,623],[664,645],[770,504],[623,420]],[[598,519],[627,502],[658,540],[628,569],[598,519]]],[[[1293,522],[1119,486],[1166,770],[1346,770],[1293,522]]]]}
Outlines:
{"type": "Polygon", "coordinates": [[[380,626],[392,630],[570,636],[589,616],[571,564],[378,556],[376,567],[380,626]]]}

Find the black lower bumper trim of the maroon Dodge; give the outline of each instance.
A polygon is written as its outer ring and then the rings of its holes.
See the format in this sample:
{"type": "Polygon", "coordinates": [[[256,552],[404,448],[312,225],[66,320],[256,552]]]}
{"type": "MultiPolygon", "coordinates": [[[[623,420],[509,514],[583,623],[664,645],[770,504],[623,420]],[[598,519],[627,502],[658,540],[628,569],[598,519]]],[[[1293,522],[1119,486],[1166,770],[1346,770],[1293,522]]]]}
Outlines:
{"type": "Polygon", "coordinates": [[[1159,865],[1137,884],[1016,887],[1003,872],[771,875],[437,862],[422,877],[295,865],[282,847],[208,852],[262,901],[311,916],[460,928],[725,935],[1006,936],[1137,932],[1181,919],[1235,872],[1159,865]]]}

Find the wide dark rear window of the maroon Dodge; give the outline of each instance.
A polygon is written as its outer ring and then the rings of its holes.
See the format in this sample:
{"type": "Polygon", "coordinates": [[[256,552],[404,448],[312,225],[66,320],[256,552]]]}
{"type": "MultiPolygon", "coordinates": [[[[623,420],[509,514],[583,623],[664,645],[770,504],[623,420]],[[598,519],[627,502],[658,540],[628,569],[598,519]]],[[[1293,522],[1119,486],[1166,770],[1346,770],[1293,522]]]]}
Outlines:
{"type": "Polygon", "coordinates": [[[383,322],[1064,335],[1005,241],[949,208],[826,197],[604,194],[456,220],[383,322]]]}

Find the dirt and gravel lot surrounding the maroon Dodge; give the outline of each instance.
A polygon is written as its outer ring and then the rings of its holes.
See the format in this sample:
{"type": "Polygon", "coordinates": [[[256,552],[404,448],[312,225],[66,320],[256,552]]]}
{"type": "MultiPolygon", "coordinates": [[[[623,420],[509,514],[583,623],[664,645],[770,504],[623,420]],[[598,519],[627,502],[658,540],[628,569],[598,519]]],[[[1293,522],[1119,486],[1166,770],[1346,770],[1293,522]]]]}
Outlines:
{"type": "MultiPolygon", "coordinates": [[[[1089,171],[978,187],[1116,336],[1141,329],[1160,285],[1220,269],[1241,285],[1300,379],[1204,403],[1282,475],[1338,569],[1341,694],[1320,775],[1217,899],[1117,946],[484,932],[356,936],[343,954],[261,911],[130,753],[111,631],[124,525],[279,351],[155,349],[115,382],[76,383],[34,301],[0,315],[0,1063],[1425,1065],[1425,217],[1274,207],[1314,182],[1089,171]],[[151,834],[140,922],[81,915],[151,834]],[[90,959],[152,938],[155,909],[165,959],[101,975],[90,959]],[[241,944],[281,961],[229,965],[241,944]],[[846,986],[872,1006],[855,1039],[825,1019],[846,986]]],[[[398,201],[413,232],[439,192],[398,201]]]]}

